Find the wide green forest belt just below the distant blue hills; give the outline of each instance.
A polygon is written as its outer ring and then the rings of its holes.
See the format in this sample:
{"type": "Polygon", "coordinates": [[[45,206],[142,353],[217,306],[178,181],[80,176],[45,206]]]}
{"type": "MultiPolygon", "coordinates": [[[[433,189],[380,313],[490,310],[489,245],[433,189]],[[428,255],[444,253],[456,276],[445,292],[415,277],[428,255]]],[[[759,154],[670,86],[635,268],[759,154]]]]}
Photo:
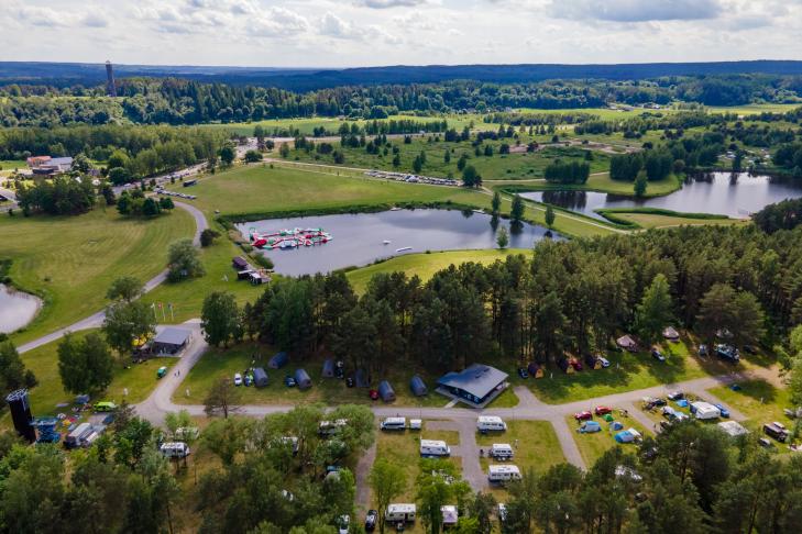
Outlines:
{"type": "Polygon", "coordinates": [[[118,80],[120,98],[103,94],[102,86],[3,86],[0,88],[0,124],[51,127],[120,121],[199,124],[312,115],[382,119],[398,112],[597,108],[608,102],[666,104],[672,100],[707,105],[798,102],[802,98],[802,76],[730,75],[529,84],[452,80],[340,86],[307,92],[176,78],[123,78],[118,80]]]}

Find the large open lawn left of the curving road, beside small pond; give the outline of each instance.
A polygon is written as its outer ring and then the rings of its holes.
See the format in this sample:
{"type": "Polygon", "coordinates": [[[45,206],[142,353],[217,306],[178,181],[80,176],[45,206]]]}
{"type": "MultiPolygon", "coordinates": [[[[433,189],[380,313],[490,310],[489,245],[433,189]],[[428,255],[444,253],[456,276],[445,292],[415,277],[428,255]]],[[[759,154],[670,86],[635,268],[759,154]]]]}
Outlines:
{"type": "Polygon", "coordinates": [[[78,216],[3,216],[0,257],[12,259],[14,286],[44,299],[40,314],[13,341],[24,343],[99,311],[116,278],[154,277],[165,268],[169,244],[194,233],[195,221],[180,209],[152,220],[125,219],[105,207],[78,216]]]}

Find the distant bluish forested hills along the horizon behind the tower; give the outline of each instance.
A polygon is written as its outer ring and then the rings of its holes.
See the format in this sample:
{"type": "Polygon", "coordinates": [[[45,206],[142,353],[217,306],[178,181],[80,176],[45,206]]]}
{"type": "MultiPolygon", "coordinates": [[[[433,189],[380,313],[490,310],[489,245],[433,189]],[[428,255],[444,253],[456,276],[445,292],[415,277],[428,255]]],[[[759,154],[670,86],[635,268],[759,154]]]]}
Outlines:
{"type": "MultiPolygon", "coordinates": [[[[270,86],[293,91],[340,86],[425,84],[452,79],[531,82],[548,79],[639,80],[663,76],[734,74],[802,75],[802,62],[646,63],[618,65],[427,65],[345,69],[116,65],[118,77],[180,77],[229,85],[270,86]]],[[[106,80],[102,64],[0,62],[0,85],[94,86],[106,80]]]]}

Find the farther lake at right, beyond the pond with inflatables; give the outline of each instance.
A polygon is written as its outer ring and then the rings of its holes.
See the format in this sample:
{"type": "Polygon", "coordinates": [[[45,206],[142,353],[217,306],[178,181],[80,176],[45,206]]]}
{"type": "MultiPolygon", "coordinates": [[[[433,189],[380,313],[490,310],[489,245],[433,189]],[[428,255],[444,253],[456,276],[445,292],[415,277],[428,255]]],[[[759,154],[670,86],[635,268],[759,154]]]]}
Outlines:
{"type": "Polygon", "coordinates": [[[534,191],[521,197],[548,202],[589,216],[604,219],[594,212],[600,208],[662,208],[689,213],[717,213],[747,218],[763,207],[788,198],[802,197],[802,181],[767,176],[714,173],[710,179],[689,179],[682,189],[664,197],[635,200],[629,197],[594,191],[534,191]]]}

